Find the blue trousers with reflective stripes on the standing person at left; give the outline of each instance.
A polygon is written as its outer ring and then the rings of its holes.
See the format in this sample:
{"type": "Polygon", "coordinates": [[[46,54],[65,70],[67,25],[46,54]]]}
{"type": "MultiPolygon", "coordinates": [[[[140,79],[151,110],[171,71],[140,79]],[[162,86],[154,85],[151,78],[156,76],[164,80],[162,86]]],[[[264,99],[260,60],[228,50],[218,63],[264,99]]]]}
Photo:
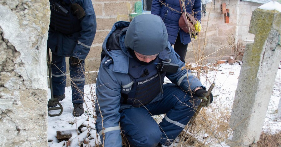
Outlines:
{"type": "MultiPolygon", "coordinates": [[[[73,67],[69,62],[69,71],[71,78],[72,103],[83,103],[84,100],[84,65],[81,60],[81,66],[73,67]]],[[[63,95],[66,87],[66,61],[65,56],[57,56],[52,53],[52,87],[54,95],[63,95]]]]}

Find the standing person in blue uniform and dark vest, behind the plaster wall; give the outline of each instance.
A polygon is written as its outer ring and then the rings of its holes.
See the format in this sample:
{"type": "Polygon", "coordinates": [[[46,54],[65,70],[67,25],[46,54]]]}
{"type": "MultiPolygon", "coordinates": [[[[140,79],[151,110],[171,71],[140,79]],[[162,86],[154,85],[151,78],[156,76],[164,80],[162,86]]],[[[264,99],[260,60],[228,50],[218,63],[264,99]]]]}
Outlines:
{"type": "MultiPolygon", "coordinates": [[[[66,57],[69,57],[73,116],[84,113],[84,64],[96,34],[91,0],[50,0],[51,21],[47,46],[52,51],[54,98],[65,98],[66,57]]],[[[48,106],[49,107],[49,106],[48,106]]]]}

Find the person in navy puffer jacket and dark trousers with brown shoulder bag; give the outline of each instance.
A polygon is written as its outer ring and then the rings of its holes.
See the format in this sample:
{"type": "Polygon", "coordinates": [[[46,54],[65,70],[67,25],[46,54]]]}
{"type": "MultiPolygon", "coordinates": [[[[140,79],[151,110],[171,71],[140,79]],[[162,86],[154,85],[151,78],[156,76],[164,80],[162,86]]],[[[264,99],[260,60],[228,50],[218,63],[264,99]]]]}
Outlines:
{"type": "MultiPolygon", "coordinates": [[[[185,10],[194,14],[195,19],[201,21],[201,0],[184,0],[185,10]]],[[[169,42],[174,44],[175,52],[180,55],[180,60],[185,63],[187,45],[191,38],[189,33],[185,33],[179,27],[181,16],[179,0],[153,0],[151,4],[151,14],[162,18],[167,28],[169,42]]]]}

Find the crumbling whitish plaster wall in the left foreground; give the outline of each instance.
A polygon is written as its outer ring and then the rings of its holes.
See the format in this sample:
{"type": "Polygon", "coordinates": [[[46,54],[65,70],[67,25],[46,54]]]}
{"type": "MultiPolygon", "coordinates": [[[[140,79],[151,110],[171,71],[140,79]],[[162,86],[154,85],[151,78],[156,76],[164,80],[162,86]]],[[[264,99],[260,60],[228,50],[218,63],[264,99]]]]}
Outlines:
{"type": "Polygon", "coordinates": [[[0,0],[0,146],[47,146],[49,1],[0,0]]]}

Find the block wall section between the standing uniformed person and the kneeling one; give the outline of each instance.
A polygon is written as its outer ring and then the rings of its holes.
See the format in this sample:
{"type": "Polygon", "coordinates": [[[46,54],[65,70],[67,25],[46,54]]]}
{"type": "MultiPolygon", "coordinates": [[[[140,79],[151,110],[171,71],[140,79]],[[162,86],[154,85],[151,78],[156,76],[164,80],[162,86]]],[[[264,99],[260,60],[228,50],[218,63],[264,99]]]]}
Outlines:
{"type": "MultiPolygon", "coordinates": [[[[101,61],[102,43],[117,21],[130,21],[137,0],[92,0],[96,13],[97,31],[90,53],[86,58],[86,84],[95,83],[101,61]],[[88,78],[87,78],[88,77],[88,78]]],[[[69,83],[69,82],[67,82],[69,83]]]]}

